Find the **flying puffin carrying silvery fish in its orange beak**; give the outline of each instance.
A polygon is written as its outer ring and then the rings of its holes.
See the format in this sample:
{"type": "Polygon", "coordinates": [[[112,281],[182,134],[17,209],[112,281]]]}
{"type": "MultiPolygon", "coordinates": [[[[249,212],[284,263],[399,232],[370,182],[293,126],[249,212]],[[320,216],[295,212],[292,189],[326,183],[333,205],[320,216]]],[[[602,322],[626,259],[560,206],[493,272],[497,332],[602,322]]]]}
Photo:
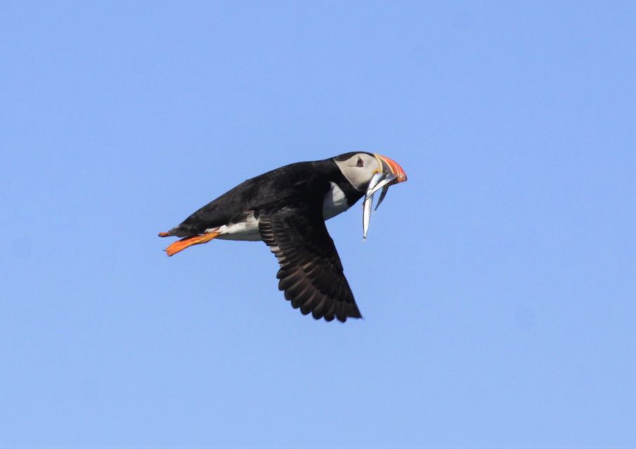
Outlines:
{"type": "Polygon", "coordinates": [[[364,197],[366,239],[373,195],[382,190],[377,209],[387,189],[404,181],[397,162],[369,152],[291,163],[241,182],[159,236],[180,238],[168,256],[213,239],[263,241],[277,257],[278,288],[291,306],[344,323],[362,314],[325,220],[364,197]]]}

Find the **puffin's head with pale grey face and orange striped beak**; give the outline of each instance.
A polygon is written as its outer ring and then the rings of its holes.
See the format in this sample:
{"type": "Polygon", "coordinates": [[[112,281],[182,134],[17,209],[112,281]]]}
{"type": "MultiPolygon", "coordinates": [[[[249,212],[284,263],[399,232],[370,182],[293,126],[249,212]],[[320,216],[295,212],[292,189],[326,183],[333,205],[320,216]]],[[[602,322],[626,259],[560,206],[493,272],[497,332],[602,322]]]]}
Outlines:
{"type": "Polygon", "coordinates": [[[402,167],[392,159],[380,154],[357,152],[340,154],[333,158],[347,181],[360,192],[369,192],[377,187],[374,192],[382,187],[389,187],[398,182],[406,181],[406,173],[402,167]],[[375,185],[371,185],[371,181],[375,185]],[[382,184],[382,185],[380,185],[382,184]],[[380,185],[380,187],[378,187],[380,185]]]}

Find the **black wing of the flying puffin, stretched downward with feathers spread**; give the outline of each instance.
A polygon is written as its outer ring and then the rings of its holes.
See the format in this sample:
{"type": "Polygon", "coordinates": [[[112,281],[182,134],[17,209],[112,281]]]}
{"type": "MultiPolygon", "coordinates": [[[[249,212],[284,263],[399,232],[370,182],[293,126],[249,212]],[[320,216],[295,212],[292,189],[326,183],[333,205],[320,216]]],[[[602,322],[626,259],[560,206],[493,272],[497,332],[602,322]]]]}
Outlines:
{"type": "Polygon", "coordinates": [[[278,288],[294,309],[326,321],[362,317],[324,224],[322,203],[262,210],[258,230],[278,259],[278,288]]]}

